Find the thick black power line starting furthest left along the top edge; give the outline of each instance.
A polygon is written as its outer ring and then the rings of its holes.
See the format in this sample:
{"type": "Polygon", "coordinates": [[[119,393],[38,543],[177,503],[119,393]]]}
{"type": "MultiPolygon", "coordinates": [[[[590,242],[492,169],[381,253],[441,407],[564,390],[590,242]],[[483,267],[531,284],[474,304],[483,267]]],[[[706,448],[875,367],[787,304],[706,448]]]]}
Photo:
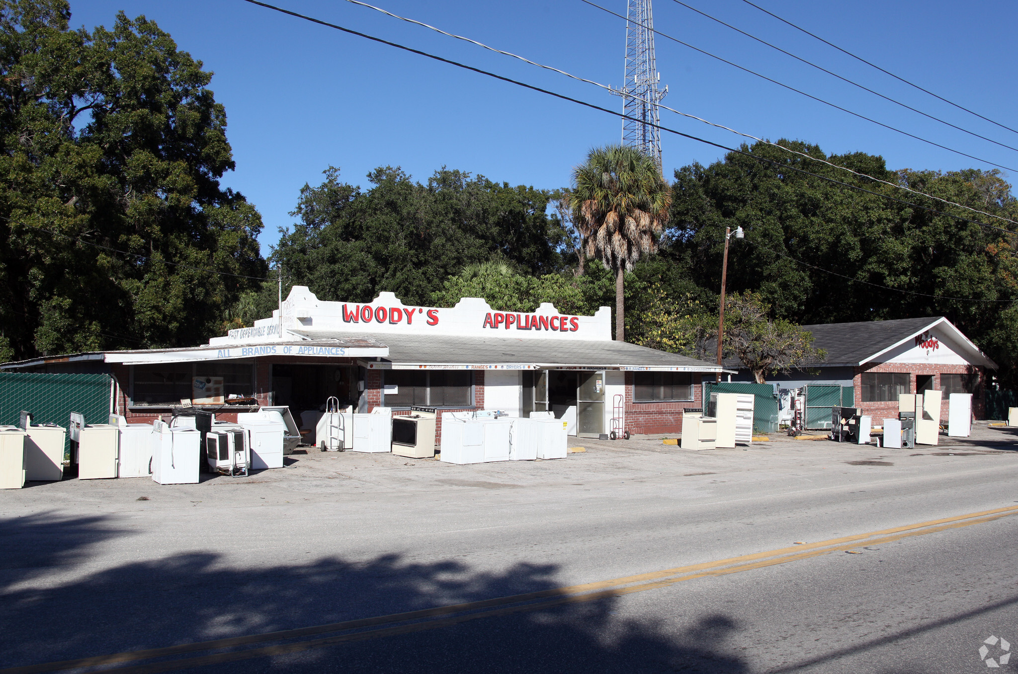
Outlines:
{"type": "MultiPolygon", "coordinates": [[[[592,103],[587,103],[586,101],[580,101],[579,99],[573,99],[571,97],[565,96],[564,94],[558,94],[556,91],[552,91],[552,90],[549,90],[549,89],[541,88],[540,86],[534,86],[533,84],[527,84],[526,82],[521,82],[519,80],[512,79],[512,78],[506,77],[504,75],[498,75],[498,74],[495,74],[494,72],[489,72],[487,70],[482,70],[480,68],[475,68],[473,66],[466,65],[466,64],[463,64],[463,63],[459,63],[457,61],[453,61],[453,60],[450,60],[450,59],[447,59],[447,58],[444,58],[444,57],[441,57],[441,56],[436,56],[434,54],[429,54],[428,52],[422,52],[420,50],[413,49],[411,47],[406,47],[404,45],[400,45],[400,44],[397,44],[397,43],[394,43],[394,42],[389,42],[389,41],[383,40],[381,38],[376,38],[374,36],[365,35],[363,33],[358,33],[358,32],[353,30],[351,28],[346,28],[346,27],[343,27],[341,25],[336,25],[335,23],[329,23],[328,21],[323,21],[322,19],[314,18],[312,16],[305,16],[303,14],[299,14],[297,12],[290,11],[289,9],[283,9],[281,7],[276,7],[274,5],[270,5],[270,4],[265,3],[265,2],[260,2],[260,0],[243,0],[243,1],[244,2],[248,2],[250,4],[253,4],[253,5],[259,5],[261,7],[265,7],[267,9],[272,9],[272,10],[281,12],[283,14],[289,14],[289,15],[295,16],[297,18],[302,18],[304,20],[310,21],[313,23],[318,23],[318,24],[324,25],[326,27],[335,28],[337,30],[342,30],[343,33],[347,33],[347,34],[350,34],[350,35],[355,35],[357,37],[364,38],[364,39],[371,40],[373,42],[381,43],[383,45],[388,45],[390,47],[395,47],[396,49],[401,49],[401,50],[406,51],[406,52],[410,52],[410,53],[413,53],[413,54],[418,54],[418,55],[423,56],[426,58],[434,59],[434,60],[440,61],[442,63],[448,63],[449,65],[454,65],[454,66],[456,66],[458,68],[463,68],[464,70],[470,70],[472,72],[476,72],[476,73],[479,73],[482,75],[487,75],[489,77],[494,77],[495,79],[500,79],[502,81],[509,82],[511,84],[516,84],[517,86],[522,86],[524,88],[528,88],[528,89],[531,89],[533,91],[540,91],[541,94],[547,94],[548,96],[552,96],[552,97],[555,97],[557,99],[561,99],[563,101],[568,101],[570,103],[575,103],[575,104],[583,106],[585,108],[590,108],[591,110],[598,110],[600,112],[607,113],[607,114],[615,116],[615,117],[622,117],[622,118],[626,118],[626,119],[634,119],[634,118],[629,118],[629,117],[627,117],[624,114],[620,114],[620,113],[617,113],[615,111],[609,110],[608,108],[602,108],[601,106],[595,105],[592,103]]],[[[586,1],[586,0],[584,0],[584,1],[586,1]]],[[[682,131],[677,131],[677,130],[669,128],[667,126],[663,126],[663,125],[660,125],[660,124],[656,124],[655,126],[657,126],[662,131],[668,131],[669,133],[674,133],[675,135],[682,136],[683,138],[689,138],[690,140],[696,140],[697,142],[702,142],[704,144],[712,145],[714,147],[718,147],[720,149],[727,150],[729,152],[734,152],[736,155],[742,155],[744,157],[748,157],[749,159],[752,159],[752,160],[757,161],[757,162],[761,162],[761,163],[766,163],[766,164],[770,164],[770,165],[776,166],[779,169],[781,169],[782,171],[794,171],[796,173],[801,173],[801,174],[804,174],[804,175],[807,175],[807,176],[812,176],[813,178],[816,178],[818,180],[824,180],[824,181],[827,181],[827,182],[830,182],[830,183],[834,183],[836,185],[841,185],[843,187],[848,187],[850,189],[854,189],[854,190],[857,190],[857,191],[860,191],[860,192],[865,192],[867,194],[872,194],[874,196],[879,196],[879,197],[882,197],[882,198],[885,198],[885,199],[889,199],[889,200],[895,201],[897,203],[902,203],[904,205],[912,206],[913,208],[919,208],[920,210],[926,210],[928,212],[937,213],[939,216],[945,216],[947,218],[952,218],[952,219],[957,220],[957,221],[962,222],[962,223],[968,223],[968,224],[971,224],[971,225],[978,225],[979,227],[985,227],[987,229],[996,230],[998,232],[1004,232],[1005,234],[1011,234],[1011,235],[1018,234],[1016,232],[1013,232],[1011,230],[1008,230],[1008,229],[1005,229],[1005,228],[1002,228],[1002,227],[995,227],[993,225],[987,225],[986,223],[980,223],[979,221],[969,220],[967,218],[962,218],[961,216],[955,216],[953,213],[944,212],[943,210],[938,210],[937,208],[931,208],[930,206],[923,206],[923,205],[920,205],[918,203],[913,203],[911,201],[906,201],[904,199],[899,199],[899,198],[891,196],[889,194],[881,194],[880,192],[874,192],[872,190],[866,189],[865,187],[859,187],[858,185],[852,185],[852,184],[849,184],[849,183],[837,180],[835,178],[829,178],[827,176],[822,176],[819,174],[812,173],[810,171],[806,171],[806,170],[800,169],[798,167],[794,167],[794,166],[791,166],[791,165],[788,165],[788,164],[781,164],[779,162],[775,162],[774,160],[769,160],[769,159],[767,159],[765,157],[757,157],[756,155],[753,155],[752,152],[747,152],[747,151],[742,150],[742,149],[736,149],[735,147],[729,147],[728,145],[723,145],[721,143],[714,142],[713,140],[706,140],[704,138],[700,138],[698,136],[691,135],[689,133],[683,133],[682,131]]],[[[781,145],[778,145],[778,146],[780,147],[781,145]]],[[[808,156],[806,156],[806,157],[808,158],[808,156]]],[[[809,158],[809,159],[812,159],[812,158],[809,158]]],[[[817,160],[817,161],[819,161],[819,160],[817,160]]],[[[835,165],[833,165],[833,166],[835,166],[835,165]]],[[[862,175],[864,175],[864,174],[862,174],[862,175]]],[[[866,177],[870,178],[869,176],[866,176],[866,177]]],[[[876,180],[876,179],[875,178],[870,178],[870,180],[876,180]]],[[[931,197],[931,198],[936,199],[937,197],[931,197]]],[[[1008,221],[1008,222],[1011,222],[1011,221],[1008,221]]]]}

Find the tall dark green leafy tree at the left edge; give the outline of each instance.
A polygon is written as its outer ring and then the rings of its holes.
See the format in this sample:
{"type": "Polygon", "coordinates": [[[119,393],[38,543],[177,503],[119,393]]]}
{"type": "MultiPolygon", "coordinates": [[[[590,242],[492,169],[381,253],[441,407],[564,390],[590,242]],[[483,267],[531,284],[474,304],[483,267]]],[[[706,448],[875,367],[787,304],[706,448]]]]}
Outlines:
{"type": "Polygon", "coordinates": [[[69,18],[0,0],[0,360],[199,344],[252,283],[208,269],[265,275],[212,74],[144,17],[69,18]]]}

